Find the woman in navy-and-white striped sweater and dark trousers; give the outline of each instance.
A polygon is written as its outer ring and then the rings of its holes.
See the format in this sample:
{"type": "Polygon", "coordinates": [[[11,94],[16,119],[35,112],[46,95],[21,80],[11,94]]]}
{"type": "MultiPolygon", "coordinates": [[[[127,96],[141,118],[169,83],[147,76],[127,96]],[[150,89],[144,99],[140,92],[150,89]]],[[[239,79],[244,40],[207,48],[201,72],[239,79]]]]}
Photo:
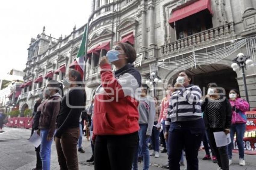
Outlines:
{"type": "Polygon", "coordinates": [[[190,84],[192,76],[186,71],[180,72],[177,80],[165,122],[169,168],[180,170],[185,148],[188,170],[198,170],[198,149],[205,131],[200,102],[202,92],[198,86],[190,84]]]}

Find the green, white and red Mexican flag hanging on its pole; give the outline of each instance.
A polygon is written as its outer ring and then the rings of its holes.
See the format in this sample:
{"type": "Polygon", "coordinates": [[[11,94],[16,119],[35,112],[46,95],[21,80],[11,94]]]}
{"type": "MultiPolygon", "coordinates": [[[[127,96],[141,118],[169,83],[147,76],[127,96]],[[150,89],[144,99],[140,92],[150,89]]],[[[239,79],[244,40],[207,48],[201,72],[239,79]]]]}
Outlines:
{"type": "Polygon", "coordinates": [[[85,60],[86,60],[86,46],[87,46],[87,40],[86,40],[86,36],[87,36],[87,24],[85,26],[85,31],[83,33],[83,38],[80,44],[80,48],[78,50],[77,53],[77,57],[76,57],[76,61],[74,61],[70,67],[72,67],[73,69],[77,70],[80,72],[82,79],[84,76],[84,66],[85,66],[85,60]]]}

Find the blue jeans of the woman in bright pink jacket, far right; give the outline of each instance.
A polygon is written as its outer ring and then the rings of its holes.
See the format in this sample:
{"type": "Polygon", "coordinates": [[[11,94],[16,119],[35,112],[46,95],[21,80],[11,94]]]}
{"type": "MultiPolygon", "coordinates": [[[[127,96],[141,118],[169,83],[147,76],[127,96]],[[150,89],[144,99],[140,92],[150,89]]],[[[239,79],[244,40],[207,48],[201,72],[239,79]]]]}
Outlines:
{"type": "Polygon", "coordinates": [[[238,146],[238,151],[239,151],[239,158],[244,159],[244,154],[245,154],[245,148],[244,148],[244,134],[245,134],[245,123],[236,123],[232,124],[230,128],[230,137],[231,137],[231,143],[228,145],[228,157],[229,159],[232,159],[232,150],[234,147],[234,135],[236,133],[236,142],[238,146]]]}

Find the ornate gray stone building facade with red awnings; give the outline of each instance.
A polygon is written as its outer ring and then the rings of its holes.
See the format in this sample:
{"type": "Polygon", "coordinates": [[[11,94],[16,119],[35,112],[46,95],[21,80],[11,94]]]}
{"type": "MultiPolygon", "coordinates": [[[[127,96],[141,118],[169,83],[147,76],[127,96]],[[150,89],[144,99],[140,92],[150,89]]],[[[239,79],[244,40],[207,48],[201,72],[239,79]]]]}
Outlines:
{"type": "MultiPolygon", "coordinates": [[[[233,71],[231,64],[238,53],[250,55],[254,67],[248,68],[245,74],[250,105],[251,108],[256,107],[256,1],[91,2],[89,59],[85,71],[87,104],[101,83],[98,68],[100,58],[118,41],[122,41],[135,47],[138,54],[136,66],[144,82],[151,72],[155,72],[164,81],[161,87],[166,87],[175,81],[179,71],[187,70],[193,75],[193,83],[202,90],[208,83],[216,82],[226,91],[239,89],[242,97],[245,97],[242,74],[241,71],[233,71]]],[[[48,71],[58,69],[62,64],[68,66],[81,41],[82,33],[79,34],[79,30],[74,29],[64,39],[54,39],[45,35],[43,30],[36,40],[33,39],[29,51],[33,49],[36,54],[29,52],[24,81],[45,76],[48,71]]],[[[60,74],[54,74],[53,78],[61,80],[60,74]]],[[[45,83],[46,79],[43,79],[42,86],[45,83]]],[[[39,83],[32,83],[31,90],[39,87],[39,83]]],[[[31,107],[31,99],[25,94],[27,92],[21,95],[20,102],[28,103],[31,107]]],[[[163,90],[156,90],[156,95],[162,96],[163,90]]]]}

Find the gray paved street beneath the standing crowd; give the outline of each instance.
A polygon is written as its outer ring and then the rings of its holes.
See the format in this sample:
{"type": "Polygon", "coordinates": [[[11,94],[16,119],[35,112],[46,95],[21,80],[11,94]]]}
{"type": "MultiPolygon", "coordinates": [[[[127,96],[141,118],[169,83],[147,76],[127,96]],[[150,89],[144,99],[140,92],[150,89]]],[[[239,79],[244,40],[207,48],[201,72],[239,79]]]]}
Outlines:
{"type": "MultiPolygon", "coordinates": [[[[27,141],[30,137],[30,130],[28,129],[16,129],[16,128],[4,128],[4,132],[0,133],[0,170],[30,170],[36,165],[36,152],[34,147],[27,141]]],[[[85,160],[91,156],[90,143],[83,140],[83,148],[86,153],[79,153],[80,169],[93,170],[93,166],[86,165],[85,160]]],[[[200,170],[216,170],[217,164],[211,161],[202,161],[204,152],[199,152],[199,169],[200,170]]],[[[241,167],[238,165],[238,155],[234,154],[234,165],[230,167],[230,170],[255,170],[256,169],[256,156],[246,155],[247,166],[241,167]]],[[[164,164],[167,160],[166,154],[161,154],[160,158],[151,157],[150,170],[160,170],[163,168],[157,167],[164,164]]],[[[139,164],[142,169],[142,164],[139,164]]],[[[52,158],[51,169],[59,169],[57,153],[55,144],[52,145],[52,158]]],[[[182,168],[184,169],[184,167],[182,168]]]]}

